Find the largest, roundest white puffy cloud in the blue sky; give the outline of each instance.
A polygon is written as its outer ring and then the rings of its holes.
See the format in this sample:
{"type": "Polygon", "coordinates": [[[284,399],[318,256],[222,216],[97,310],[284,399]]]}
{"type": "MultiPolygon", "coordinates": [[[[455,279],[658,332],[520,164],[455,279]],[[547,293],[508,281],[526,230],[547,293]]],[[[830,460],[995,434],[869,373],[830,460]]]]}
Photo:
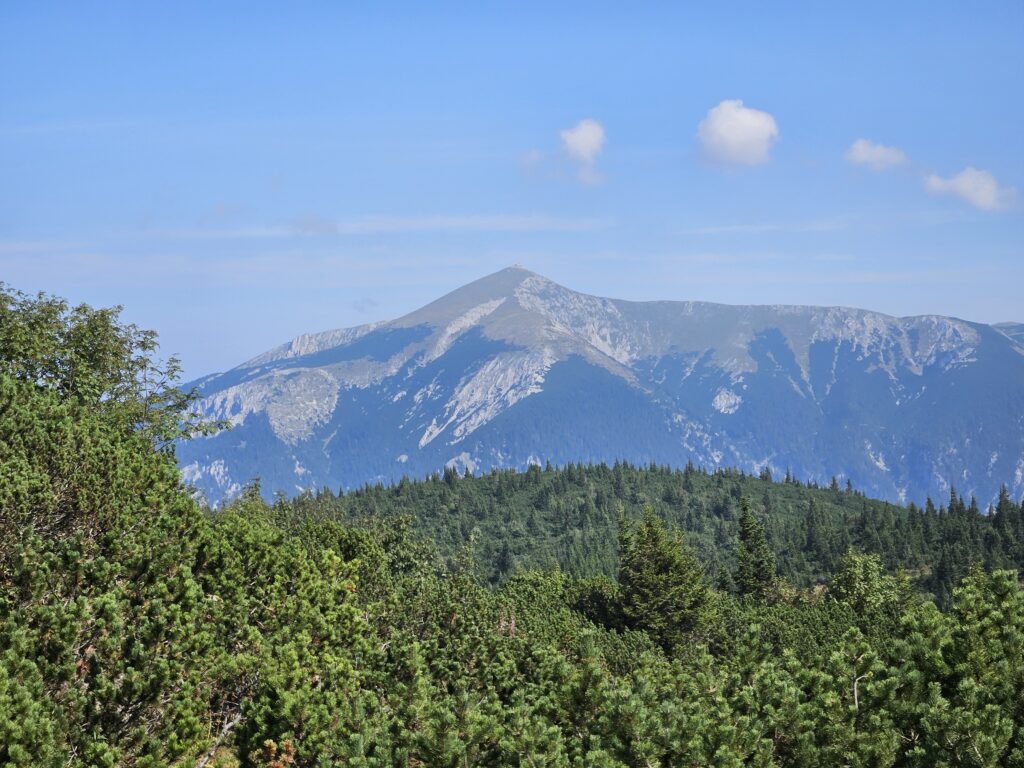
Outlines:
{"type": "Polygon", "coordinates": [[[775,118],[743,106],[738,98],[713,106],[697,127],[697,137],[708,157],[726,165],[767,163],[778,136],[775,118]]]}

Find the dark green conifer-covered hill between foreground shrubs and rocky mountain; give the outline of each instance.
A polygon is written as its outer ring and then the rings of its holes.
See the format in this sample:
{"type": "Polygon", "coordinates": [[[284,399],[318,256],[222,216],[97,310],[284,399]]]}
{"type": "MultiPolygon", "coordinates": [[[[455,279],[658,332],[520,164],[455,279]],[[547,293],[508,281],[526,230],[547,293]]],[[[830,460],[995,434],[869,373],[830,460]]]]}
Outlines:
{"type": "Polygon", "coordinates": [[[738,471],[708,473],[616,463],[481,476],[453,469],[426,480],[366,486],[336,496],[330,489],[279,501],[301,516],[343,521],[409,516],[416,528],[454,553],[472,539],[484,577],[558,566],[579,577],[612,575],[618,567],[620,518],[649,507],[687,539],[711,577],[733,565],[739,500],[763,515],[779,572],[799,586],[824,581],[850,548],[878,554],[903,568],[945,603],[972,562],[989,567],[1024,564],[1024,504],[1006,493],[987,510],[956,492],[925,507],[866,498],[849,484],[828,487],[792,477],[772,479],[738,471]]]}

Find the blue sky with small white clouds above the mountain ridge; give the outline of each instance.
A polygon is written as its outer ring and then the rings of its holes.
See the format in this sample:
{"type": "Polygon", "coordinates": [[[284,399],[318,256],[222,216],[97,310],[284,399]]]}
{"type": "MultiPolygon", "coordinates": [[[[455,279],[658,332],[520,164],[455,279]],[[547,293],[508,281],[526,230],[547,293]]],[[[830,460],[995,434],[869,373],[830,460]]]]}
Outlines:
{"type": "Polygon", "coordinates": [[[190,376],[512,263],[1024,322],[1024,3],[551,6],[4,3],[0,281],[190,376]]]}

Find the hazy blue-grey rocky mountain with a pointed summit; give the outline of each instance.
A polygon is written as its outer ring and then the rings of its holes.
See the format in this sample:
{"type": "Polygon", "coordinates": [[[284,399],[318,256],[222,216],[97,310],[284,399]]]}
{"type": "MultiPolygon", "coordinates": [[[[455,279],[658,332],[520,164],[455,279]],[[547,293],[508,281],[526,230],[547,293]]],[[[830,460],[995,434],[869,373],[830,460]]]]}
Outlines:
{"type": "Polygon", "coordinates": [[[1024,494],[1024,346],[845,307],[632,302],[519,267],[195,382],[210,501],[551,461],[730,466],[921,502],[1024,494]]]}

